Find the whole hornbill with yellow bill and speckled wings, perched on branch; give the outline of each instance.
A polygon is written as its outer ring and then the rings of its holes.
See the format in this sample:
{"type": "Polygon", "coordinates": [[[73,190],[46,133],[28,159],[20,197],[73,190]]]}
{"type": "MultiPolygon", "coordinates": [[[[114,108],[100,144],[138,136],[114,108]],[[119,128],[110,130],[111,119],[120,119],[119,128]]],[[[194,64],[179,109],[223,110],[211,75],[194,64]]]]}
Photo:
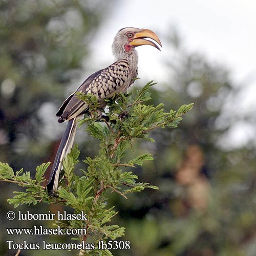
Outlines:
{"type": "Polygon", "coordinates": [[[70,152],[73,145],[78,120],[88,112],[88,105],[77,98],[76,93],[91,93],[95,95],[101,109],[105,107],[105,98],[110,98],[118,92],[125,93],[133,84],[134,78],[138,74],[138,53],[135,48],[142,45],[150,45],[160,50],[155,42],[145,38],[155,40],[162,47],[161,41],[152,30],[138,28],[120,29],[112,45],[116,61],[109,67],[90,75],[60,106],[56,114],[59,117],[58,122],[68,121],[68,125],[60,141],[47,183],[49,194],[56,195],[62,160],[70,152]]]}

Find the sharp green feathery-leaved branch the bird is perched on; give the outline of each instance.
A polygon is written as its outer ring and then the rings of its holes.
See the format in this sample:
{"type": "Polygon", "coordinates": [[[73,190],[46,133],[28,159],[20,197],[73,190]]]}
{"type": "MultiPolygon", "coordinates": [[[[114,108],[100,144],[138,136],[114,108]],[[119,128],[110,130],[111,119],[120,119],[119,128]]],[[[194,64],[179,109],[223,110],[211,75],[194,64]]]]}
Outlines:
{"type": "MultiPolygon", "coordinates": [[[[193,106],[183,105],[178,111],[164,112],[163,104],[157,106],[146,105],[145,101],[151,99],[150,88],[155,83],[149,82],[135,95],[118,94],[111,99],[106,99],[109,111],[99,113],[99,104],[96,97],[79,93],[78,98],[89,105],[90,116],[80,121],[79,125],[87,123],[88,133],[98,139],[100,150],[94,158],[87,157],[83,160],[88,166],[80,170],[79,175],[74,173],[78,156],[78,146],[75,145],[71,153],[63,160],[63,177],[59,182],[59,197],[52,198],[45,187],[42,187],[44,174],[50,163],[41,164],[36,168],[35,179],[30,172],[19,170],[14,174],[8,164],[0,163],[0,180],[16,183],[26,187],[25,191],[14,191],[14,197],[8,199],[10,204],[18,207],[22,204],[63,204],[71,207],[75,213],[86,212],[88,220],[74,220],[69,224],[57,222],[61,228],[86,227],[87,234],[80,236],[80,241],[90,241],[97,244],[98,241],[115,240],[124,235],[124,227],[111,225],[110,221],[117,215],[115,206],[109,207],[106,191],[117,193],[129,200],[129,194],[139,192],[145,188],[158,189],[149,183],[138,182],[138,176],[124,168],[134,168],[143,165],[144,161],[153,160],[151,154],[138,155],[128,161],[124,160],[126,153],[132,150],[136,139],[154,141],[150,137],[150,131],[158,127],[177,127],[182,116],[193,106]],[[101,114],[105,117],[98,122],[101,114]],[[127,188],[128,187],[128,188],[127,188]]],[[[85,166],[85,165],[84,165],[85,166]]],[[[77,238],[76,238],[77,239],[77,238]]],[[[80,251],[80,255],[112,255],[109,250],[80,251]]]]}

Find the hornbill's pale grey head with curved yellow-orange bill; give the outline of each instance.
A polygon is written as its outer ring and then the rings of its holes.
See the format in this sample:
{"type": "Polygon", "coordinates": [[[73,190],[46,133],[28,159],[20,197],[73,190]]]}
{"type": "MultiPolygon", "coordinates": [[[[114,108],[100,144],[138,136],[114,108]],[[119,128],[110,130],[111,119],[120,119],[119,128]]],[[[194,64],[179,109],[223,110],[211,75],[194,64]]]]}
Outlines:
{"type": "Polygon", "coordinates": [[[151,40],[147,40],[145,38],[151,38],[156,41],[161,47],[161,41],[150,29],[138,29],[138,28],[123,28],[118,31],[114,38],[114,42],[112,45],[113,54],[115,57],[121,57],[125,54],[132,53],[135,47],[143,46],[143,45],[150,45],[157,48],[160,51],[155,42],[151,40]]]}

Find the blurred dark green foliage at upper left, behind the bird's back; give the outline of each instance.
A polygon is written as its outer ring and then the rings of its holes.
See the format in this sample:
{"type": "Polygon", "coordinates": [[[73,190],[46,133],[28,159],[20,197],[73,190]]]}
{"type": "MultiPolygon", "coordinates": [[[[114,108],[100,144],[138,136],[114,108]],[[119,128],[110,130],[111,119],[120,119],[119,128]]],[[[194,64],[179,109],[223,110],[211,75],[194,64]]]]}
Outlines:
{"type": "MultiPolygon", "coordinates": [[[[79,77],[104,1],[1,1],[0,158],[17,168],[49,157],[42,104],[52,111],[79,77]],[[99,8],[100,6],[100,8],[99,8]],[[24,144],[26,146],[24,146],[24,144]],[[30,158],[30,161],[23,156],[30,158]]],[[[53,140],[53,139],[52,139],[53,140]]]]}

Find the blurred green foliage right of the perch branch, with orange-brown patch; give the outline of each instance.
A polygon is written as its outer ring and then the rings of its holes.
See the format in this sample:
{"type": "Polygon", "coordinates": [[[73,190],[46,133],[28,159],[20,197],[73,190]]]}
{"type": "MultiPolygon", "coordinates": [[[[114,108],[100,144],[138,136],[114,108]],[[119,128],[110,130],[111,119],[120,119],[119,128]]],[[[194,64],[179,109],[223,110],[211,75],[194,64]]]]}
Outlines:
{"type": "MultiPolygon", "coordinates": [[[[256,148],[228,150],[222,143],[230,127],[222,118],[224,105],[238,91],[227,69],[187,52],[173,31],[169,44],[169,82],[159,85],[152,103],[195,104],[176,130],[154,131],[153,146],[138,143],[136,151],[146,147],[155,158],[139,177],[154,181],[159,191],[145,190],[128,203],[113,197],[134,245],[117,255],[253,256],[256,148]]],[[[239,111],[235,105],[233,111],[239,111]]]]}

